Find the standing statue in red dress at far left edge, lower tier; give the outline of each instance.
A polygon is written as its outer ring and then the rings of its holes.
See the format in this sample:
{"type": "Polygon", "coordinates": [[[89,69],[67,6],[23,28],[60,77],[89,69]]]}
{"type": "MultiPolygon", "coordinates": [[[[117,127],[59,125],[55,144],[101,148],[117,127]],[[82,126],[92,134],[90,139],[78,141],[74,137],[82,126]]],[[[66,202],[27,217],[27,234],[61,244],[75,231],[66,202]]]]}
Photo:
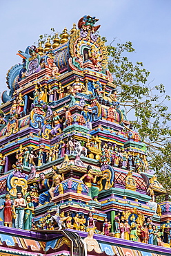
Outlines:
{"type": "Polygon", "coordinates": [[[2,208],[4,226],[12,228],[12,217],[15,217],[15,209],[9,192],[6,192],[6,199],[3,201],[0,209],[2,208]]]}

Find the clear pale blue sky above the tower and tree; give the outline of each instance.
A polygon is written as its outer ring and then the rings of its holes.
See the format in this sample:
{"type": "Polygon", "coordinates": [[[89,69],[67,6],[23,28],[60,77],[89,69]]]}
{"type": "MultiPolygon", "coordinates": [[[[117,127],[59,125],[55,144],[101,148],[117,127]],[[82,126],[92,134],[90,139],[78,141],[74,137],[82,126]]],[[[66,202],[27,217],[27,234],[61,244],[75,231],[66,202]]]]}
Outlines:
{"type": "Polygon", "coordinates": [[[170,93],[171,1],[170,0],[0,0],[0,91],[6,90],[6,73],[21,63],[16,55],[55,28],[59,33],[83,15],[96,16],[99,33],[120,42],[131,41],[133,62],[143,62],[153,84],[165,84],[170,93]]]}

